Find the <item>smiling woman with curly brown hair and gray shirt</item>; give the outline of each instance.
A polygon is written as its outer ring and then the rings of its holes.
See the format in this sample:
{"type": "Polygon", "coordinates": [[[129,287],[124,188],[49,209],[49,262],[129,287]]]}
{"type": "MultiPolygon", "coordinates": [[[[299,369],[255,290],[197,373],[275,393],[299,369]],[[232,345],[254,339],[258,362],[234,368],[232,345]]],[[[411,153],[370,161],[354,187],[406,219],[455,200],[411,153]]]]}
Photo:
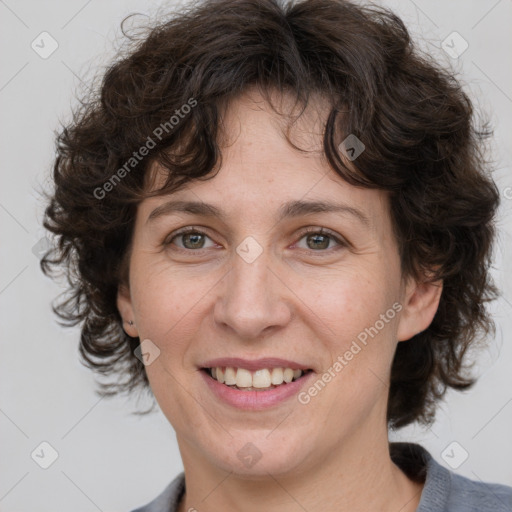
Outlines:
{"type": "Polygon", "coordinates": [[[150,388],[176,431],[184,473],[139,512],[512,510],[388,440],[492,332],[471,119],[399,18],[345,1],[198,4],[108,70],[59,137],[42,266],[103,391],[150,388]]]}

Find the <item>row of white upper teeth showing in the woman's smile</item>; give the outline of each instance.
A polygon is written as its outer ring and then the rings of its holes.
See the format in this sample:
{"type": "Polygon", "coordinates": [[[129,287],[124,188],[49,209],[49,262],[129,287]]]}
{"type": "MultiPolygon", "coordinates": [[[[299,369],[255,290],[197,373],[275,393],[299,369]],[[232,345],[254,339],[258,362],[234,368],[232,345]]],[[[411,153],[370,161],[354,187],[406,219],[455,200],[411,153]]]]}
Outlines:
{"type": "Polygon", "coordinates": [[[245,368],[210,368],[210,375],[220,383],[238,388],[265,389],[289,383],[302,376],[302,370],[292,368],[262,368],[251,372],[245,368]]]}

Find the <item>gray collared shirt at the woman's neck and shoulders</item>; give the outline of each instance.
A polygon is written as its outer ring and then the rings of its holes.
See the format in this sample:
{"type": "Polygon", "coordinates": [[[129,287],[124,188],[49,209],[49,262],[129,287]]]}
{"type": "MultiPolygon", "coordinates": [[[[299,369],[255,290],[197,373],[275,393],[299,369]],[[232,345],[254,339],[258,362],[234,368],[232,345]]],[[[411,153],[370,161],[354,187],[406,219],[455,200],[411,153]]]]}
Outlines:
{"type": "MultiPolygon", "coordinates": [[[[425,483],[416,512],[512,512],[512,487],[457,475],[418,444],[390,443],[390,454],[410,478],[425,483]]],[[[182,472],[151,503],[133,512],[176,512],[184,492],[182,472]]]]}

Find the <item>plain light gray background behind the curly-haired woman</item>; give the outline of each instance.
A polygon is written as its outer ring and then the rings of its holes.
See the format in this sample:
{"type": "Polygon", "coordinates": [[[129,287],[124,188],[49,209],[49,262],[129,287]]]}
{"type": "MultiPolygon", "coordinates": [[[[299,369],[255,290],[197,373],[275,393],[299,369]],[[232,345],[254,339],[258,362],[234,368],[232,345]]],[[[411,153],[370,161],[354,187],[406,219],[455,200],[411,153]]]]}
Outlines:
{"type": "MultiPolygon", "coordinates": [[[[477,104],[490,112],[503,199],[494,275],[504,297],[493,306],[497,336],[480,353],[481,378],[468,393],[449,393],[431,429],[407,428],[393,438],[422,443],[447,467],[442,454],[455,441],[445,452],[452,460],[462,450],[469,454],[455,471],[512,485],[512,283],[507,273],[512,255],[512,2],[383,3],[403,17],[423,47],[460,71],[477,104]],[[454,31],[469,45],[456,59],[441,49],[454,31]]],[[[59,327],[50,309],[61,288],[42,275],[32,250],[44,236],[38,191],[48,188],[58,120],[69,120],[82,80],[108,63],[122,18],[134,11],[153,14],[162,5],[0,0],[3,512],[127,511],[152,499],[182,470],[174,431],[160,412],[137,417],[131,414],[134,402],[99,400],[94,394],[92,374],[78,362],[78,328],[59,327]],[[31,48],[43,31],[59,45],[47,59],[31,48]],[[43,441],[59,455],[46,470],[31,458],[43,441]]]]}

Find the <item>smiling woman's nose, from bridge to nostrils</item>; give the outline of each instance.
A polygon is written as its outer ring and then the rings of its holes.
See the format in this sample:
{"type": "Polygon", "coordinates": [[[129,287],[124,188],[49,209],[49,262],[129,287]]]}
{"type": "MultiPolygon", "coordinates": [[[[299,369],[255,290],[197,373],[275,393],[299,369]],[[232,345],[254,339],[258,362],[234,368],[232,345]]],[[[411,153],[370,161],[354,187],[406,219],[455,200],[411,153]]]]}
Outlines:
{"type": "Polygon", "coordinates": [[[268,253],[263,251],[251,263],[234,253],[231,268],[222,280],[214,319],[237,339],[261,338],[287,325],[292,316],[286,300],[288,288],[268,253]]]}

